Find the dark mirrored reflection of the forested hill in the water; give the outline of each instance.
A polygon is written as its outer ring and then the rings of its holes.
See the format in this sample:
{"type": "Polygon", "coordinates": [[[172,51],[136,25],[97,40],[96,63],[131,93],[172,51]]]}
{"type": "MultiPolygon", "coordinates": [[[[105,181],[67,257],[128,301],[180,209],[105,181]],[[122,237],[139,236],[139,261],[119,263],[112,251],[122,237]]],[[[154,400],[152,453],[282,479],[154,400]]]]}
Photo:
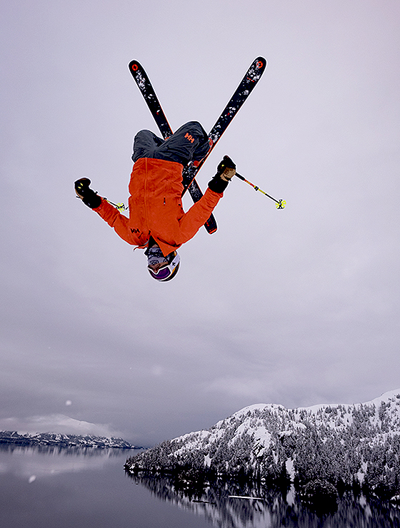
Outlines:
{"type": "Polygon", "coordinates": [[[166,502],[201,515],[219,528],[385,528],[400,527],[400,512],[391,504],[368,502],[365,497],[344,494],[329,509],[305,504],[293,487],[287,492],[241,487],[232,489],[151,475],[131,476],[166,502]],[[192,485],[194,484],[194,485],[192,485]],[[259,497],[256,499],[232,497],[259,497]]]}

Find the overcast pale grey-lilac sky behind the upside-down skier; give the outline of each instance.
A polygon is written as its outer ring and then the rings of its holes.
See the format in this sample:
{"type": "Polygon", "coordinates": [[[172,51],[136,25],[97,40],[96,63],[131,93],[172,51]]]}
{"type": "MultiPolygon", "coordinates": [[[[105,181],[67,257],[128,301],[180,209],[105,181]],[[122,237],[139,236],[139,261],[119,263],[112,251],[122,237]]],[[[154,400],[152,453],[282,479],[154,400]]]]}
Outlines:
{"type": "MultiPolygon", "coordinates": [[[[259,402],[400,387],[397,0],[21,1],[1,17],[0,428],[67,415],[152,444],[259,402]],[[199,173],[236,178],[171,283],[74,198],[126,203],[131,143],[209,130],[268,68],[199,173]]],[[[187,208],[189,197],[184,200],[187,208]]]]}

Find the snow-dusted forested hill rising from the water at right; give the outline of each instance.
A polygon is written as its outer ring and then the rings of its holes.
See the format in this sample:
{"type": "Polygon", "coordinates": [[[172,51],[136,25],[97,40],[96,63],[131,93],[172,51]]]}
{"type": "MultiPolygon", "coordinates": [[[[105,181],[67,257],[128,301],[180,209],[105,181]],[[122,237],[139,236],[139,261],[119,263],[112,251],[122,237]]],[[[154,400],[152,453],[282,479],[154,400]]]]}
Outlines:
{"type": "Polygon", "coordinates": [[[209,430],[191,432],[130,457],[130,474],[187,470],[258,482],[323,479],[400,493],[400,389],[355,405],[245,407],[209,430]]]}

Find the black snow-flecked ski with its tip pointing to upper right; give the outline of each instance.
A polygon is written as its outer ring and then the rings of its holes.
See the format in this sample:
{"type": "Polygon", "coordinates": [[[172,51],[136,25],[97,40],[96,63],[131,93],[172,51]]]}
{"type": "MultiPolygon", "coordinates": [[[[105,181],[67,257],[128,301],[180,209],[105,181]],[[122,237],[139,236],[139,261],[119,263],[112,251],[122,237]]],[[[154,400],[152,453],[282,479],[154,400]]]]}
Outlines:
{"type": "Polygon", "coordinates": [[[231,96],[229,103],[226,105],[224,111],[221,113],[221,116],[219,116],[215,125],[213,126],[213,128],[211,128],[211,132],[209,133],[209,139],[211,140],[211,148],[209,150],[209,153],[201,160],[201,162],[196,167],[193,163],[190,163],[184,168],[184,193],[188,188],[190,191],[191,184],[194,181],[196,173],[199,172],[204,161],[206,161],[206,159],[209,157],[212,149],[216,146],[216,143],[218,143],[219,139],[221,138],[224,131],[226,131],[226,128],[228,128],[234,116],[236,116],[236,113],[238,113],[244,101],[246,101],[251,91],[253,91],[254,86],[256,86],[256,83],[258,83],[261,78],[261,75],[265,71],[266,64],[266,59],[264,59],[264,57],[257,57],[257,59],[252,62],[250,68],[246,71],[244,78],[242,78],[241,83],[236,88],[234,95],[231,96]]]}

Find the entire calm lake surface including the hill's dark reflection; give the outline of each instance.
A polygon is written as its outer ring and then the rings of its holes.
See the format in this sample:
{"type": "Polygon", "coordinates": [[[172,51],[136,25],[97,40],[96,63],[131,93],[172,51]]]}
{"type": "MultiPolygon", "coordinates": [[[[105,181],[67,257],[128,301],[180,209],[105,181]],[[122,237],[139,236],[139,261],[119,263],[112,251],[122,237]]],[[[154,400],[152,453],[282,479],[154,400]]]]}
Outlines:
{"type": "MultiPolygon", "coordinates": [[[[166,479],[127,477],[119,450],[0,450],[0,526],[5,528],[384,528],[400,510],[342,499],[315,514],[294,494],[229,498],[234,489],[176,490],[166,479]],[[197,493],[197,494],[196,494],[197,493]]],[[[249,493],[250,494],[250,493],[249,493]]]]}

